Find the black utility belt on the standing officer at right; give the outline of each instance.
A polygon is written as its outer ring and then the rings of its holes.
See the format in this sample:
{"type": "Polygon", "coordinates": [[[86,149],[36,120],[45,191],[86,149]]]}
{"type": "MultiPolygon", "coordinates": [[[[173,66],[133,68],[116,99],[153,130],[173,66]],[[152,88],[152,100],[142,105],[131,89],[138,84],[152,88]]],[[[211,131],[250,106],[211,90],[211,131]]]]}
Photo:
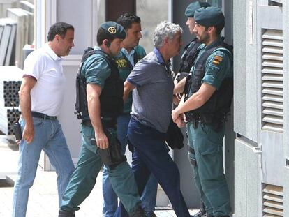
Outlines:
{"type": "Polygon", "coordinates": [[[223,128],[227,121],[227,114],[223,112],[215,113],[200,113],[200,112],[185,112],[186,121],[193,124],[193,128],[198,128],[199,123],[213,126],[214,130],[218,131],[223,128]]]}

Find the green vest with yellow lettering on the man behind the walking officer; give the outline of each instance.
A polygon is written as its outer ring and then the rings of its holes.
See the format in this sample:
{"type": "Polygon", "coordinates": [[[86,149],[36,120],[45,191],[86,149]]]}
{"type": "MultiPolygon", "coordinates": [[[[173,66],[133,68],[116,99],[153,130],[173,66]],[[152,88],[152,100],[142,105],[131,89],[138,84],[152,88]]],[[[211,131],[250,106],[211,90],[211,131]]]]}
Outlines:
{"type": "MultiPolygon", "coordinates": [[[[142,59],[146,53],[144,48],[140,45],[134,48],[134,63],[137,63],[140,59],[142,59]]],[[[128,75],[133,70],[133,66],[131,62],[128,60],[124,52],[120,51],[117,57],[115,57],[115,61],[117,63],[117,67],[119,68],[119,75],[121,79],[125,82],[128,75]]],[[[131,112],[131,105],[133,103],[133,96],[132,93],[128,95],[128,99],[126,103],[124,103],[124,114],[129,114],[131,112]]]]}

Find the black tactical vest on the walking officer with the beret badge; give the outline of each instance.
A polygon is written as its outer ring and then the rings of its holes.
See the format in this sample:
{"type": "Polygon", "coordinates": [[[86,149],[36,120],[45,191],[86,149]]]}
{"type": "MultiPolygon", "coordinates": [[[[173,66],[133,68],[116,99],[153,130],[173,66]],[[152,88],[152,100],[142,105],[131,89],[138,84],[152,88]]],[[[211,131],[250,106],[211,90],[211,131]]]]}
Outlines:
{"type": "Polygon", "coordinates": [[[101,90],[101,117],[110,117],[114,118],[121,114],[124,101],[124,82],[119,77],[119,70],[117,68],[114,60],[105,54],[102,50],[94,50],[91,47],[88,47],[84,51],[82,56],[82,61],[80,62],[80,67],[78,69],[76,77],[76,103],[75,110],[78,119],[84,119],[84,117],[89,117],[88,106],[87,106],[87,82],[85,77],[82,75],[82,67],[84,62],[93,54],[100,54],[97,58],[103,58],[110,66],[110,76],[105,80],[103,89],[101,90]]]}

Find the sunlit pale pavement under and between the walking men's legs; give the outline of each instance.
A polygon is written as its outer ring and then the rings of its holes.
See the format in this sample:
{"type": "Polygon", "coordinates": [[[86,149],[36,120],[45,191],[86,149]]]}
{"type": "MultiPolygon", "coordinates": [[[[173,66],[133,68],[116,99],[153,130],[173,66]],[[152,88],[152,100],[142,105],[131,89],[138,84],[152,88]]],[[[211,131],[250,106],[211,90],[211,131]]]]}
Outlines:
{"type": "MultiPolygon", "coordinates": [[[[11,202],[13,197],[13,180],[17,171],[18,151],[13,145],[8,145],[6,137],[0,136],[0,217],[11,216],[11,202]],[[14,151],[13,151],[14,149],[14,151]],[[7,179],[5,179],[7,178],[7,179]]],[[[98,174],[96,186],[89,197],[81,204],[77,217],[101,217],[102,213],[102,174],[98,174]]],[[[27,217],[57,216],[58,197],[55,172],[44,172],[39,167],[29,194],[27,217]]],[[[160,207],[156,207],[160,209],[160,207]]],[[[167,208],[168,207],[163,207],[167,208]]],[[[190,210],[194,214],[196,210],[190,210]]],[[[174,217],[172,210],[156,210],[158,217],[174,217]]]]}

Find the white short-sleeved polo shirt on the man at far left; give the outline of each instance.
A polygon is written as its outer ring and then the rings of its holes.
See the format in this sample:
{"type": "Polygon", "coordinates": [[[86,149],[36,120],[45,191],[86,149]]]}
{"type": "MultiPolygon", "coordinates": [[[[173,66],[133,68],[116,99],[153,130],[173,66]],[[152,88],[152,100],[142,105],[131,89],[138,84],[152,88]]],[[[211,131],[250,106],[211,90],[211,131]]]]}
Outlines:
{"type": "Polygon", "coordinates": [[[23,72],[23,77],[29,76],[36,80],[31,89],[31,110],[49,116],[59,115],[66,82],[61,57],[45,44],[28,55],[23,72]]]}

